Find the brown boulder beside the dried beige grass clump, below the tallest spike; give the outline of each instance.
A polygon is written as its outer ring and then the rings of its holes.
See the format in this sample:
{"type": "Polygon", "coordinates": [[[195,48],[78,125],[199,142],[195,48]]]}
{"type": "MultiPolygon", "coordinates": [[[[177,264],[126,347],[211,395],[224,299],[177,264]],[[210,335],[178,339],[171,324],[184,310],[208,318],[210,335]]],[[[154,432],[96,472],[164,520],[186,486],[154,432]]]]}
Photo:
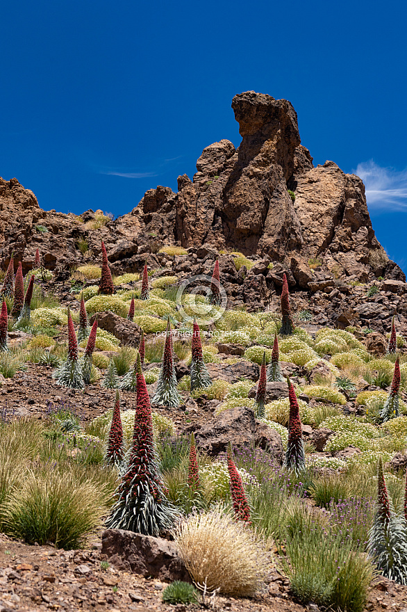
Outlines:
{"type": "Polygon", "coordinates": [[[106,529],[101,544],[101,554],[119,570],[167,582],[190,582],[174,542],[124,529],[106,529]]]}

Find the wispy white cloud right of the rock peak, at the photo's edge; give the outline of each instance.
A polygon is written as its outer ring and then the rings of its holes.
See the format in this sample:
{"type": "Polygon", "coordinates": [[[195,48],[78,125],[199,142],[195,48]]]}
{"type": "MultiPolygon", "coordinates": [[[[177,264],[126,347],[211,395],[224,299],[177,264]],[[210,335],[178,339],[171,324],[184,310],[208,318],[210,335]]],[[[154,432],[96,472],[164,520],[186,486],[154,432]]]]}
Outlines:
{"type": "Polygon", "coordinates": [[[370,159],[359,163],[354,173],[365,183],[369,208],[407,211],[407,168],[382,168],[370,159]]]}

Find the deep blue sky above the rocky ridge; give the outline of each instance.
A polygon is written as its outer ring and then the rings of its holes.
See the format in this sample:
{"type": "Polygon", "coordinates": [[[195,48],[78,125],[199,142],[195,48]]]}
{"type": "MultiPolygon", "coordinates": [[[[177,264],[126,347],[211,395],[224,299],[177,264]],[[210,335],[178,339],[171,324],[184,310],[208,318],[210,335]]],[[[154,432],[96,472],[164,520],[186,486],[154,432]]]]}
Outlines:
{"type": "Polygon", "coordinates": [[[286,98],[314,163],[365,179],[407,268],[404,2],[15,0],[2,7],[0,176],[44,209],[130,211],[229,138],[237,93],[286,98]]]}

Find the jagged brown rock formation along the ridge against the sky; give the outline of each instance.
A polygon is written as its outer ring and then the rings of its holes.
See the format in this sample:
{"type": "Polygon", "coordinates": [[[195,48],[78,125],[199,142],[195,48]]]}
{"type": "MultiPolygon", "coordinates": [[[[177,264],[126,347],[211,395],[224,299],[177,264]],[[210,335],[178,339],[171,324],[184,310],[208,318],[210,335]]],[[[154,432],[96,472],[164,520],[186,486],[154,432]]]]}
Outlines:
{"type": "MultiPolygon", "coordinates": [[[[17,179],[0,179],[3,266],[14,250],[15,264],[22,260],[25,272],[40,248],[45,266],[69,268],[86,259],[80,241],[88,242],[90,259],[99,258],[103,239],[113,272],[140,269],[146,255],[152,265],[162,264],[149,254],[160,245],[174,244],[195,253],[204,245],[207,253],[212,247],[255,255],[263,258],[265,267],[274,263],[272,282],[280,284],[284,270],[291,286],[308,290],[314,284],[313,291],[349,276],[362,282],[380,275],[404,281],[374,236],[363,182],[345,175],[332,161],[313,167],[310,153],[300,144],[292,104],[244,92],[233,98],[232,108],[242,136],[237,150],[229,140],[209,145],[192,181],[187,175],[178,177],[178,193],[163,186],[150,189],[131,213],[98,230],[84,223],[92,220],[92,211],[82,218],[45,212],[17,179]],[[288,188],[295,193],[294,201],[288,188]],[[316,273],[311,260],[314,267],[320,264],[316,273]]],[[[224,266],[233,267],[233,261],[225,260],[224,266]]],[[[185,272],[191,269],[188,262],[184,267],[185,272]]],[[[243,284],[243,277],[240,280],[243,284]]],[[[247,283],[249,293],[253,282],[247,283]]],[[[260,285],[260,294],[267,293],[265,283],[260,285]]]]}

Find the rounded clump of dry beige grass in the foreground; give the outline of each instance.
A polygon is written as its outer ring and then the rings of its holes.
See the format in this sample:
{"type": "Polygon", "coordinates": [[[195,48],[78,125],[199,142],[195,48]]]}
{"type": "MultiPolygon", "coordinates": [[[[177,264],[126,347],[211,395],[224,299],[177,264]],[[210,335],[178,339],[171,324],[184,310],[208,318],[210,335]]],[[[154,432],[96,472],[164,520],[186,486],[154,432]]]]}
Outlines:
{"type": "Polygon", "coordinates": [[[262,543],[247,524],[219,508],[190,515],[175,542],[194,583],[209,592],[247,597],[263,585],[269,562],[262,543]]]}

